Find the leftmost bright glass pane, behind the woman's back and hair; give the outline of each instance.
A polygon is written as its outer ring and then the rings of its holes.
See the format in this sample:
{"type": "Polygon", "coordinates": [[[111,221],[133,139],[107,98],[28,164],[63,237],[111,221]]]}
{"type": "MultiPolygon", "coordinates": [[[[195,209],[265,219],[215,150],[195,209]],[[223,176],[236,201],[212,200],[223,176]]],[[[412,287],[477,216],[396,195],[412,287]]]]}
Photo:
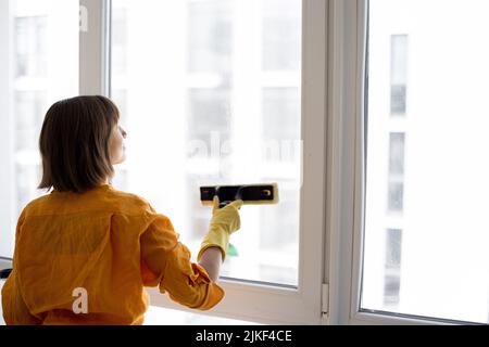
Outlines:
{"type": "Polygon", "coordinates": [[[48,107],[78,93],[77,0],[0,2],[0,257],[38,191],[38,138],[48,107]]]}

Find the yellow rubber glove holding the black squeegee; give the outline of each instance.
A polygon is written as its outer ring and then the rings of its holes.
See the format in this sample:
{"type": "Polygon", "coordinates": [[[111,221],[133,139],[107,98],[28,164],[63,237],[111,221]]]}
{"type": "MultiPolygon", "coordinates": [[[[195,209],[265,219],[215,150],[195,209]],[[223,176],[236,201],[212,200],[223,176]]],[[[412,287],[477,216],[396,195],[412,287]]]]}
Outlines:
{"type": "Polygon", "coordinates": [[[202,240],[199,255],[197,256],[198,260],[200,260],[205,249],[218,247],[223,254],[224,261],[227,247],[229,246],[229,235],[241,228],[241,220],[239,218],[239,209],[241,206],[242,201],[237,200],[220,208],[220,198],[218,196],[214,196],[209,232],[202,240]]]}

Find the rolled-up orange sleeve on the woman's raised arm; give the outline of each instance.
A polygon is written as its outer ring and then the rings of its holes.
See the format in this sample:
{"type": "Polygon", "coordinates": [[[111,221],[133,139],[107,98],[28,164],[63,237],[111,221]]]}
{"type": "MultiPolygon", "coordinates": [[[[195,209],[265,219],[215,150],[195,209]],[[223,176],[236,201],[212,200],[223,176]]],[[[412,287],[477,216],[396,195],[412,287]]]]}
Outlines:
{"type": "Polygon", "coordinates": [[[224,297],[205,269],[190,261],[190,252],[178,241],[170,219],[156,215],[141,239],[141,274],[145,285],[159,285],[160,292],[184,306],[208,310],[224,297]]]}

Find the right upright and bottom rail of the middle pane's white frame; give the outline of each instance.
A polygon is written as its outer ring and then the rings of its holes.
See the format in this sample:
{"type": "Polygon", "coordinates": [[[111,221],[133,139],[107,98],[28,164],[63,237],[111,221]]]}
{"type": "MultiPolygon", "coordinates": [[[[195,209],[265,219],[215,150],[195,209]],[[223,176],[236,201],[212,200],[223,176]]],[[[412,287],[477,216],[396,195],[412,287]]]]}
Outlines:
{"type": "MultiPolygon", "coordinates": [[[[224,300],[211,314],[271,324],[322,322],[326,95],[326,2],[303,0],[302,138],[299,288],[223,280],[224,300]]],[[[158,291],[153,305],[180,306],[158,291]]]]}

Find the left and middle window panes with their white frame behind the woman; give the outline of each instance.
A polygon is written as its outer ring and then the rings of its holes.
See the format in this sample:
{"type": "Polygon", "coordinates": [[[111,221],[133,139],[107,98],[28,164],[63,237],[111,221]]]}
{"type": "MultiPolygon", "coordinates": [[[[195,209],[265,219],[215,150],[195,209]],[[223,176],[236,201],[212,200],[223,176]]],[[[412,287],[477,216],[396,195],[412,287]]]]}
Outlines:
{"type": "Polygon", "coordinates": [[[171,217],[193,256],[210,220],[199,187],[278,183],[278,205],[243,208],[226,299],[211,313],[319,322],[325,34],[324,1],[1,1],[0,257],[12,256],[22,208],[45,193],[48,107],[108,94],[129,134],[113,184],[171,217]]]}

